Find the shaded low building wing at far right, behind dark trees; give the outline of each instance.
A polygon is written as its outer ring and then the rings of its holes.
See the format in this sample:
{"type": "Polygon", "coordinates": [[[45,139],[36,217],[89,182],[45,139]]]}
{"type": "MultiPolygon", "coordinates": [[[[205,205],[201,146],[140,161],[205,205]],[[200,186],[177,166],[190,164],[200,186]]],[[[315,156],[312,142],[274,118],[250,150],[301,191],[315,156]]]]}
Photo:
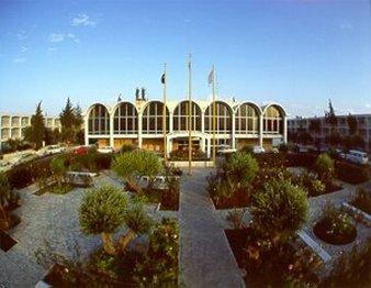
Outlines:
{"type": "MultiPolygon", "coordinates": [[[[338,119],[337,125],[334,128],[341,136],[349,135],[349,126],[347,123],[348,115],[336,115],[338,119]]],[[[352,114],[358,121],[357,133],[363,139],[366,143],[366,149],[371,151],[371,114],[352,114]]],[[[288,132],[295,133],[299,131],[308,132],[313,139],[324,141],[330,134],[331,125],[326,122],[325,117],[319,118],[301,118],[288,119],[288,132]],[[321,121],[321,131],[315,133],[310,131],[311,121],[321,121]]]]}

